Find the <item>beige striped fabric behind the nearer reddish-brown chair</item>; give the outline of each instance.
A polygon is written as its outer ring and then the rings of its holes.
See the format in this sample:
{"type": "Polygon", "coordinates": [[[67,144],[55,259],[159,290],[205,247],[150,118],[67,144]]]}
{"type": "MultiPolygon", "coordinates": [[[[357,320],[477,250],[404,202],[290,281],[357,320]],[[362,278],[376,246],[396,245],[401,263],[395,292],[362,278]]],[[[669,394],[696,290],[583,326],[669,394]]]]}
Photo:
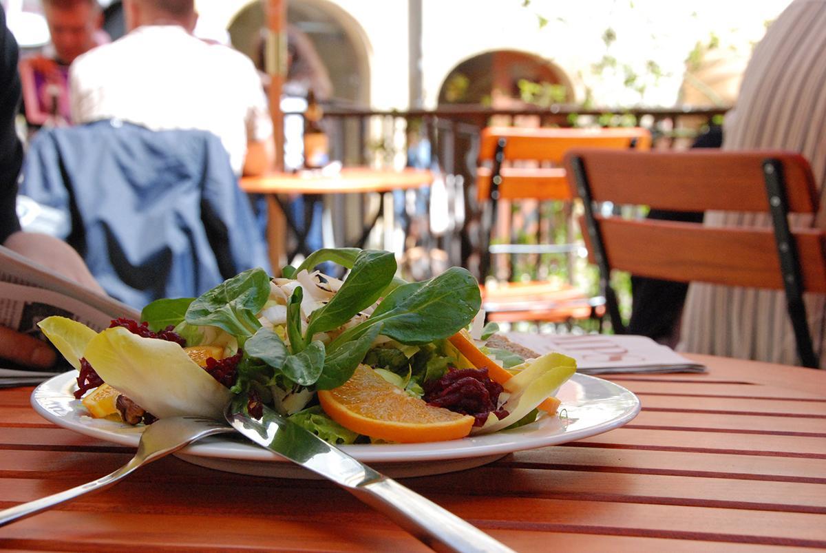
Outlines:
{"type": "MultiPolygon", "coordinates": [[[[804,155],[824,199],[826,182],[826,0],[795,0],[771,24],[743,75],[737,105],[724,123],[725,150],[777,148],[804,155]]],[[[824,209],[813,222],[826,228],[824,209]]],[[[714,212],[712,226],[769,226],[767,215],[714,212]]],[[[815,355],[824,355],[826,302],[808,294],[806,308],[815,355]]],[[[798,365],[783,293],[691,284],[679,350],[798,365]]]]}

